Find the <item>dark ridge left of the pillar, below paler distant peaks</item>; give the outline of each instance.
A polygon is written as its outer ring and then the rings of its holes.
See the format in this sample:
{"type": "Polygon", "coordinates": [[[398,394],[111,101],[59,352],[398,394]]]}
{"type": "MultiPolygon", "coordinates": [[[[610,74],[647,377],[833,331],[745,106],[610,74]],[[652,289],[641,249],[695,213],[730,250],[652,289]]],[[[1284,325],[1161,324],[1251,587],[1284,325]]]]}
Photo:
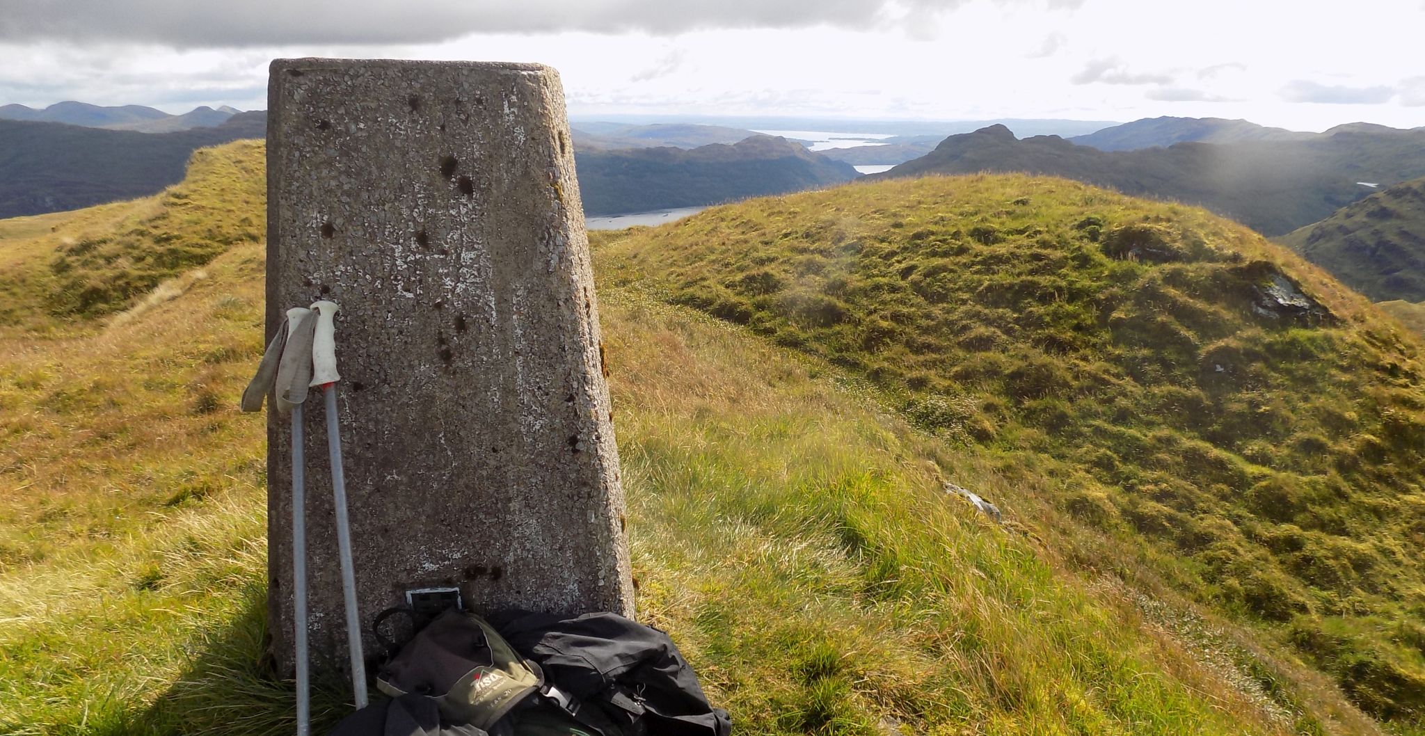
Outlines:
{"type": "Polygon", "coordinates": [[[0,120],[0,218],[151,195],[182,179],[195,148],[265,135],[264,112],[177,132],[0,120]]]}

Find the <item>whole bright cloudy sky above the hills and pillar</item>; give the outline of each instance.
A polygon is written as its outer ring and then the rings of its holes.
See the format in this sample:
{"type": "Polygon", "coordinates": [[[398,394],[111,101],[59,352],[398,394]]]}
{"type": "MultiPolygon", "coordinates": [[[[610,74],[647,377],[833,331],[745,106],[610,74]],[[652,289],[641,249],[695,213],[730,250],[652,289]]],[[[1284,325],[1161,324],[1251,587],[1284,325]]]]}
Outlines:
{"type": "Polygon", "coordinates": [[[0,104],[266,107],[274,57],[540,61],[570,112],[1425,125],[1425,0],[0,0],[0,104]]]}

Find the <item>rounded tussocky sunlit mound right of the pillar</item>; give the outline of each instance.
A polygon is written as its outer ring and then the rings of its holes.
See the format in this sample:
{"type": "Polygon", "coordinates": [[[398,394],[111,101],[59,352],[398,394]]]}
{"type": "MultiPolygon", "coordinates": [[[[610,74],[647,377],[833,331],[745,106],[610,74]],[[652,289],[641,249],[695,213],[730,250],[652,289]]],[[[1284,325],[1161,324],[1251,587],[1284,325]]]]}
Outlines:
{"type": "Polygon", "coordinates": [[[1039,531],[1089,545],[1084,567],[1154,571],[1375,716],[1425,715],[1419,343],[1285,249],[1196,208],[985,175],[717,208],[600,255],[613,286],[1050,474],[1083,530],[1039,531]]]}

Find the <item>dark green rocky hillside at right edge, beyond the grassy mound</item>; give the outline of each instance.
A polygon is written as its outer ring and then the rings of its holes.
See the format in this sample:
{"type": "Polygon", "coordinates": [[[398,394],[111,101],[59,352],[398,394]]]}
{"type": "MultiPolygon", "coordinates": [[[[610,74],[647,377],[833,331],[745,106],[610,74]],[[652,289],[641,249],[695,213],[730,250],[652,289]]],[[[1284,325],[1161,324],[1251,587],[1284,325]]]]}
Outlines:
{"type": "Polygon", "coordinates": [[[1377,300],[1425,300],[1425,178],[1381,189],[1281,242],[1377,300]]]}

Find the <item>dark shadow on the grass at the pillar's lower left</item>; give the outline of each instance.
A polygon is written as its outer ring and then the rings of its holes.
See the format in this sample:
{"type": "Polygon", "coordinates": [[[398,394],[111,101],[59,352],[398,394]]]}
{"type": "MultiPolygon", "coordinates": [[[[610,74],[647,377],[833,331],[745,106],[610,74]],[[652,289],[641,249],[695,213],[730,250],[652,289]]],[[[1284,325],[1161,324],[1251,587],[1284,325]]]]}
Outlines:
{"type": "MultiPolygon", "coordinates": [[[[97,736],[225,733],[291,735],[296,730],[292,680],[279,680],[266,656],[266,591],[244,591],[241,609],[225,625],[190,643],[188,668],[145,709],[87,730],[97,736]]],[[[312,733],[329,732],[351,713],[351,683],[312,682],[312,733]]]]}

